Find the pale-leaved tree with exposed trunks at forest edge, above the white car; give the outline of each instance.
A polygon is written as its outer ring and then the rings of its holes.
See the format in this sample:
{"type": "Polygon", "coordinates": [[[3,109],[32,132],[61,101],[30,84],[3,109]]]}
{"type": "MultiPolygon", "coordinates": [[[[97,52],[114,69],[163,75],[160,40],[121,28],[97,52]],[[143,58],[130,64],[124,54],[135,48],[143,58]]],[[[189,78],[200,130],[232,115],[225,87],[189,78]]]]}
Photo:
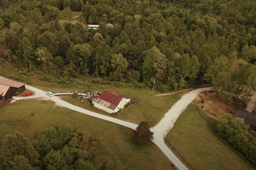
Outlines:
{"type": "Polygon", "coordinates": [[[53,56],[45,47],[37,48],[35,54],[37,55],[37,60],[42,62],[43,72],[46,73],[47,63],[53,58],[53,56]]]}

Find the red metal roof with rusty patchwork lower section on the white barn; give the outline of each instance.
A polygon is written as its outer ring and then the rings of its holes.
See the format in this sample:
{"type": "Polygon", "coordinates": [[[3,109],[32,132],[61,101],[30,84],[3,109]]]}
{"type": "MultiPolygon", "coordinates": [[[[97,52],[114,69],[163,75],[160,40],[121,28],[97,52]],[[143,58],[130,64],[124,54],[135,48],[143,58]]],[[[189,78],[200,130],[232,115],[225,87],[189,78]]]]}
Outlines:
{"type": "Polygon", "coordinates": [[[115,93],[111,90],[104,90],[102,95],[93,99],[93,101],[110,108],[111,110],[115,110],[122,98],[130,99],[130,97],[115,93]]]}

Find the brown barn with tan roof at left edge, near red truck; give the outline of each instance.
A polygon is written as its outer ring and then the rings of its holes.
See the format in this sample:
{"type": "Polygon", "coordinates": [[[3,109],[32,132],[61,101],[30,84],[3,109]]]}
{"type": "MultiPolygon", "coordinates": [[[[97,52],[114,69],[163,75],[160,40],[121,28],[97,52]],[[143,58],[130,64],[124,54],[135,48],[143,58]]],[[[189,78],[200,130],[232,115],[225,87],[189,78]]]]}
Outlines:
{"type": "Polygon", "coordinates": [[[22,89],[25,89],[25,84],[0,78],[0,100],[3,98],[7,100],[22,89]]]}

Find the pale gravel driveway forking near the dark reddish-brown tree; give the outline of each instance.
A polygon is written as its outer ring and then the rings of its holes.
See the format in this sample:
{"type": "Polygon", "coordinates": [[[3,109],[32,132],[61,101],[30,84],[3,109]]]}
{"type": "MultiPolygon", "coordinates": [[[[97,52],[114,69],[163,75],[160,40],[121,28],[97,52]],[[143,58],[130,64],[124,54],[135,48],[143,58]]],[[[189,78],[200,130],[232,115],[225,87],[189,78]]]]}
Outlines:
{"type": "MultiPolygon", "coordinates": [[[[49,97],[46,95],[46,92],[43,90],[40,90],[38,88],[25,85],[26,89],[29,89],[31,91],[34,91],[38,96],[43,96],[49,100],[52,100],[55,102],[56,105],[61,107],[66,107],[71,110],[81,112],[84,114],[88,114],[90,116],[94,116],[103,120],[107,120],[110,122],[114,122],[119,125],[126,126],[131,129],[135,129],[138,125],[119,120],[113,117],[105,116],[99,113],[91,112],[86,109],[83,109],[81,107],[75,106],[73,104],[70,104],[66,101],[63,101],[59,99],[56,96],[49,97]]],[[[179,169],[179,170],[188,170],[188,168],[173,154],[173,152],[165,145],[164,137],[169,132],[169,130],[174,126],[175,121],[178,119],[179,115],[187,108],[187,106],[197,97],[199,92],[209,90],[209,88],[198,88],[195,90],[190,91],[189,93],[183,95],[180,100],[178,100],[171,108],[170,110],[163,116],[162,120],[153,128],[150,130],[154,132],[154,140],[153,142],[162,150],[162,152],[173,162],[173,164],[179,169]]]]}

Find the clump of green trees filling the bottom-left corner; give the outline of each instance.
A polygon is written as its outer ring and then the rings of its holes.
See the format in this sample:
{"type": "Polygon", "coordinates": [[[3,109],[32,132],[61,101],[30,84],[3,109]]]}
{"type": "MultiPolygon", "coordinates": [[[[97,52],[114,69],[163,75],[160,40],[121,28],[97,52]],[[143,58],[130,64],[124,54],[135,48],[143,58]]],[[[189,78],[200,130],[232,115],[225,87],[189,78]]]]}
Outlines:
{"type": "Polygon", "coordinates": [[[22,133],[5,135],[0,169],[119,170],[121,165],[97,137],[70,124],[45,128],[32,142],[22,133]]]}

